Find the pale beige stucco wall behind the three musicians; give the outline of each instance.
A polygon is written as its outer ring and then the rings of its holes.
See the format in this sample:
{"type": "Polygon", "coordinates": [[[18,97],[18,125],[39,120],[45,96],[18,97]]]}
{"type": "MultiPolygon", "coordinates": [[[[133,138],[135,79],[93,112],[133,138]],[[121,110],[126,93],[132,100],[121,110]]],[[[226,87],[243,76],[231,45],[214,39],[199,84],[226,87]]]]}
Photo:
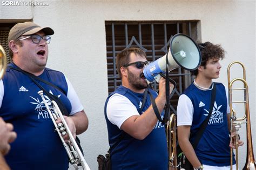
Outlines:
{"type": "MultiPolygon", "coordinates": [[[[202,41],[221,44],[227,52],[226,59],[221,62],[223,69],[217,81],[227,85],[227,65],[233,60],[239,60],[246,66],[256,154],[254,1],[44,2],[49,5],[0,4],[0,22],[33,19],[35,23],[55,30],[49,45],[48,67],[63,71],[68,76],[85,107],[89,129],[80,138],[91,169],[97,169],[97,155],[106,153],[108,149],[104,119],[107,97],[105,21],[200,20],[202,41]]],[[[242,166],[246,146],[242,146],[239,152],[242,166]]]]}

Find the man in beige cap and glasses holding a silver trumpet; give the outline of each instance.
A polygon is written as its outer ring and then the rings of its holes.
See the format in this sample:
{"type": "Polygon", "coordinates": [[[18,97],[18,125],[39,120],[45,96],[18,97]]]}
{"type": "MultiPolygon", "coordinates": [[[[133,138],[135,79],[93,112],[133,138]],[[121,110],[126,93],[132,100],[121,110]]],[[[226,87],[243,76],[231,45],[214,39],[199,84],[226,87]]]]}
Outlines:
{"type": "MultiPolygon", "coordinates": [[[[18,23],[9,32],[13,62],[0,80],[0,117],[14,125],[17,139],[5,156],[12,170],[68,169],[68,155],[37,93],[44,89],[65,106],[73,134],[83,133],[88,120],[70,81],[62,72],[46,68],[48,45],[54,31],[32,22],[18,23]]],[[[49,95],[50,96],[50,95],[49,95]]],[[[44,93],[46,101],[49,97],[44,93]]],[[[64,139],[68,139],[67,135],[64,139]]]]}

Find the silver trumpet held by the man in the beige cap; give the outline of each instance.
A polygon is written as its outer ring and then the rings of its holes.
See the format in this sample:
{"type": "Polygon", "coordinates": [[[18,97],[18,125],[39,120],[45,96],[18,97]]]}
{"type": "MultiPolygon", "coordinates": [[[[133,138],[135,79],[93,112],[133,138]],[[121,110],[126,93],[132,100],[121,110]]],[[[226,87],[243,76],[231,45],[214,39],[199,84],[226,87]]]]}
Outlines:
{"type": "Polygon", "coordinates": [[[82,166],[84,170],[90,170],[90,167],[86,163],[83,154],[76,143],[75,138],[73,138],[73,135],[70,132],[68,124],[66,123],[62,112],[60,112],[57,103],[54,100],[51,101],[51,108],[53,110],[53,112],[51,112],[50,107],[44,98],[43,91],[38,91],[38,94],[42,97],[43,103],[48,113],[50,114],[55,129],[58,132],[59,138],[62,141],[63,146],[65,147],[66,153],[68,154],[70,164],[73,165],[75,169],[79,169],[79,167],[82,166]],[[62,120],[62,123],[56,123],[56,120],[58,118],[62,120]],[[63,135],[65,134],[68,134],[70,138],[68,144],[66,144],[66,142],[63,139],[63,135]]]}

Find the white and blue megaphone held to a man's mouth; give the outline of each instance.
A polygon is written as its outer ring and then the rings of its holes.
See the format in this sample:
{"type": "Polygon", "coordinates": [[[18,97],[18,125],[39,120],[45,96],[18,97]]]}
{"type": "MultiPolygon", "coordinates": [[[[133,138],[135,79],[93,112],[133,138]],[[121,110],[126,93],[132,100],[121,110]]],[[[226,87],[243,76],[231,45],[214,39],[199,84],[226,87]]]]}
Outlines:
{"type": "Polygon", "coordinates": [[[148,82],[156,80],[159,82],[159,73],[168,72],[179,67],[185,70],[196,70],[201,64],[201,53],[197,44],[190,37],[178,33],[174,35],[170,42],[170,49],[166,55],[148,64],[143,70],[148,82]],[[166,55],[168,63],[166,64],[166,55]]]}

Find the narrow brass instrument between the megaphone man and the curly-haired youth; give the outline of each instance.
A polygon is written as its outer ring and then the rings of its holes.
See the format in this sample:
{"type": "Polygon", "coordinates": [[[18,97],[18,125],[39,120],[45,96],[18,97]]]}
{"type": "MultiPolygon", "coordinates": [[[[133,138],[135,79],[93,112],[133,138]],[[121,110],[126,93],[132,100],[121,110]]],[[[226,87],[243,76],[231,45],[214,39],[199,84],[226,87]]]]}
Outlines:
{"type": "Polygon", "coordinates": [[[180,166],[177,165],[177,144],[176,144],[176,130],[177,130],[176,115],[171,114],[170,120],[166,124],[166,138],[167,138],[167,147],[169,155],[169,166],[168,169],[175,169],[180,166]]]}

